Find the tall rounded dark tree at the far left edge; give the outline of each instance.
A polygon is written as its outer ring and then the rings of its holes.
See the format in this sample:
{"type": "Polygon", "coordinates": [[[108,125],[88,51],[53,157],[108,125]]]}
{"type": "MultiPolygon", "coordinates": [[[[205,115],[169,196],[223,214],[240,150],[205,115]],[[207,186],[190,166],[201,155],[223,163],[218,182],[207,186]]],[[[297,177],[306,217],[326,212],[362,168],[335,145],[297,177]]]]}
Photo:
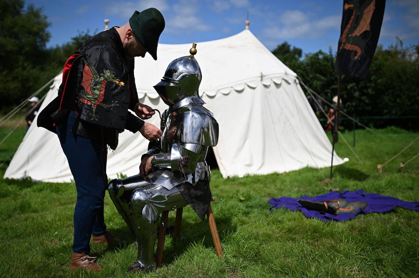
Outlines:
{"type": "Polygon", "coordinates": [[[0,109],[14,106],[40,87],[46,78],[40,69],[47,56],[49,23],[41,8],[22,0],[0,0],[0,109]]]}

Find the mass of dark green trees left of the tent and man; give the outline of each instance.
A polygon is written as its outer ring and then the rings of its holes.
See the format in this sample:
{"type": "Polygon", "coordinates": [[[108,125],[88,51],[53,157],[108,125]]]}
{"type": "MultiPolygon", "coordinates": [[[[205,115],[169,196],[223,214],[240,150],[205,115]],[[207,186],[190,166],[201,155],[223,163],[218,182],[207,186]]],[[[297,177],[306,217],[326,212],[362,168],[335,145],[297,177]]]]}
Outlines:
{"type": "Polygon", "coordinates": [[[57,75],[92,35],[79,31],[69,42],[48,49],[49,23],[42,8],[30,4],[25,9],[22,0],[0,0],[0,12],[0,110],[9,111],[57,75]]]}

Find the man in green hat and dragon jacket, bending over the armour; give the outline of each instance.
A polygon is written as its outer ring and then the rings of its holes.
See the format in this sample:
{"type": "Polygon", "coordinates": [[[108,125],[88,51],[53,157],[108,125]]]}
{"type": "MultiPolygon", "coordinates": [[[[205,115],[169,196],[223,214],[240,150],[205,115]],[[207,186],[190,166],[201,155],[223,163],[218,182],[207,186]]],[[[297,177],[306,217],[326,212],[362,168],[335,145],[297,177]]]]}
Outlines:
{"type": "Polygon", "coordinates": [[[92,234],[98,243],[112,244],[117,240],[107,232],[103,218],[108,182],[106,145],[115,149],[118,133],[124,129],[140,131],[150,141],[162,134],[140,119],[150,118],[154,111],[138,102],[133,58],[148,52],[157,59],[164,25],[163,15],[150,8],[135,11],[124,26],[88,39],[67,61],[59,96],[39,115],[39,126],[57,133],[77,188],[72,269],[101,270],[95,257],[89,256],[92,234]],[[59,109],[56,111],[54,106],[59,109]],[[51,118],[55,130],[49,125],[51,118]]]}

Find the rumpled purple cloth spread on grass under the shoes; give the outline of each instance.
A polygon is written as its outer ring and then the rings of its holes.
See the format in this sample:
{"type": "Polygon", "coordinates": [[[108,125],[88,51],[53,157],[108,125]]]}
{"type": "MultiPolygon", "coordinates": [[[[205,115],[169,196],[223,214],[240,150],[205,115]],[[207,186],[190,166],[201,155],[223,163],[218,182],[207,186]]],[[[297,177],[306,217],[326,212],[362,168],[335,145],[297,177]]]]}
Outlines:
{"type": "Polygon", "coordinates": [[[333,191],[333,192],[329,192],[329,193],[319,195],[316,197],[301,196],[300,198],[297,198],[297,199],[290,198],[290,197],[271,198],[268,202],[272,204],[272,206],[270,207],[270,210],[277,209],[280,207],[285,207],[286,209],[290,209],[292,211],[300,210],[308,218],[317,218],[317,219],[320,219],[321,221],[329,221],[329,220],[347,221],[349,219],[354,218],[360,212],[363,212],[365,214],[370,213],[370,212],[385,213],[388,211],[392,211],[393,209],[396,208],[396,206],[400,206],[405,209],[419,211],[419,202],[406,202],[398,198],[394,198],[391,196],[383,196],[378,193],[364,193],[363,189],[355,190],[355,191],[345,190],[342,193],[333,191]],[[301,206],[300,203],[297,202],[298,199],[306,199],[313,202],[345,199],[349,202],[364,201],[368,203],[368,206],[365,209],[358,209],[358,211],[353,214],[340,213],[340,214],[335,215],[335,214],[321,213],[319,211],[308,210],[304,208],[303,206],[301,206]]]}

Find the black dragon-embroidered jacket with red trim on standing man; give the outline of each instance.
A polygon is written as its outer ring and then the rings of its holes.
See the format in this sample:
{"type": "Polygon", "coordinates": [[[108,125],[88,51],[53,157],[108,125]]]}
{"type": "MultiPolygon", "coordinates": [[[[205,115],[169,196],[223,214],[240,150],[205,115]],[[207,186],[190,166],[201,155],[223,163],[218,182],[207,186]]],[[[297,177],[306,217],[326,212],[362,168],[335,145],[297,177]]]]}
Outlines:
{"type": "Polygon", "coordinates": [[[75,111],[78,118],[72,131],[81,136],[99,136],[103,129],[138,131],[144,121],[128,111],[138,102],[134,59],[124,57],[115,27],[88,39],[73,56],[67,81],[63,80],[57,98],[41,111],[38,126],[55,131],[54,122],[75,111]]]}

